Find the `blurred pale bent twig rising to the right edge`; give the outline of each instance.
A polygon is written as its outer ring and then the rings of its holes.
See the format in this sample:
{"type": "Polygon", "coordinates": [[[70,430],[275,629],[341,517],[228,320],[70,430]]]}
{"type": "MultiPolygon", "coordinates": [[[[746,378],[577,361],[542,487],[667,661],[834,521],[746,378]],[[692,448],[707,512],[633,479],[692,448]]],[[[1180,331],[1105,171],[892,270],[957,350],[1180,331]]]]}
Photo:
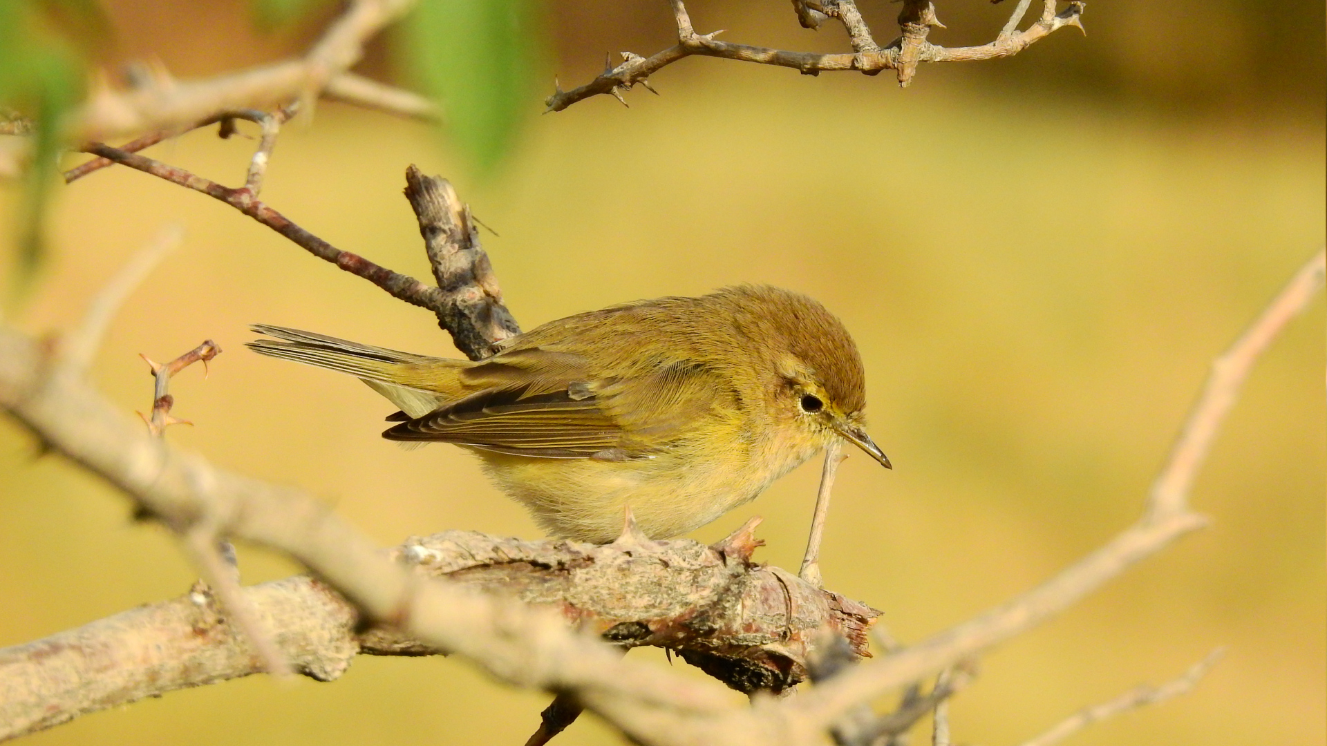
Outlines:
{"type": "Polygon", "coordinates": [[[1162,469],[1145,514],[1133,526],[1042,585],[914,646],[856,666],[798,697],[788,706],[803,710],[828,727],[863,700],[872,700],[1040,624],[1178,536],[1206,526],[1204,516],[1188,508],[1193,475],[1249,366],[1322,288],[1323,263],[1323,252],[1310,259],[1267,311],[1218,358],[1221,362],[1213,369],[1213,382],[1206,388],[1209,393],[1190,413],[1180,446],[1162,469]]]}

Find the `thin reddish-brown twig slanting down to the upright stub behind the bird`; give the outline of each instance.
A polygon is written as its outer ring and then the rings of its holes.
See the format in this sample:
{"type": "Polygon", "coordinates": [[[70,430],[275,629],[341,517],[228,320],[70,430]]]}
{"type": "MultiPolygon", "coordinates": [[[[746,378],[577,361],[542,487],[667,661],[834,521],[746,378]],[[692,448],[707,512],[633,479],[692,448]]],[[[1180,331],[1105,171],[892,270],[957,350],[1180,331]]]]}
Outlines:
{"type": "Polygon", "coordinates": [[[374,264],[358,254],[341,251],[333,247],[328,242],[295,224],[276,210],[272,210],[261,200],[255,199],[253,195],[245,188],[226,187],[211,179],[186,171],[184,169],[170,166],[137,153],[125,153],[123,150],[110,147],[109,145],[93,143],[85,147],[85,150],[114,161],[115,163],[137,169],[145,174],[151,174],[171,183],[200,191],[214,199],[219,199],[291,239],[296,246],[300,246],[318,259],[330,261],[352,275],[369,280],[398,300],[403,300],[421,308],[427,308],[434,313],[447,312],[447,299],[438,288],[421,283],[409,275],[393,272],[386,267],[374,264]]]}

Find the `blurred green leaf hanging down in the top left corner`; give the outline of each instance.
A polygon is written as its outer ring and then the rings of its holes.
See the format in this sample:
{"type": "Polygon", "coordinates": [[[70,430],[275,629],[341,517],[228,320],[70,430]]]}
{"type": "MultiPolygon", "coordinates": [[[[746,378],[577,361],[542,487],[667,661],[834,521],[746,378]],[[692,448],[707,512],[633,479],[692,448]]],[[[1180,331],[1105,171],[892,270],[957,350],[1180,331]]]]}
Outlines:
{"type": "MultiPolygon", "coordinates": [[[[49,11],[57,3],[0,0],[0,114],[33,122],[32,165],[24,178],[24,204],[17,226],[15,291],[21,295],[41,265],[41,222],[61,150],[60,119],[82,94],[80,56],[54,32],[49,11]]],[[[65,0],[62,11],[80,16],[82,0],[65,0]]],[[[66,17],[69,17],[66,13],[66,17]]]]}

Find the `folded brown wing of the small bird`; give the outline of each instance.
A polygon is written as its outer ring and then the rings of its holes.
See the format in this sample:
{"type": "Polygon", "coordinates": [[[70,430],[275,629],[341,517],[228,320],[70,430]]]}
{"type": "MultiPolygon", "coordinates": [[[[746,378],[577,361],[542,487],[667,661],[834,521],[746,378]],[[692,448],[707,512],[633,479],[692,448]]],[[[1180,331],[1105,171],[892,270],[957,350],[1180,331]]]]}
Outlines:
{"type": "Polygon", "coordinates": [[[725,396],[713,372],[681,362],[645,376],[593,376],[580,356],[525,348],[462,374],[475,393],[384,433],[543,458],[650,455],[725,396]]]}

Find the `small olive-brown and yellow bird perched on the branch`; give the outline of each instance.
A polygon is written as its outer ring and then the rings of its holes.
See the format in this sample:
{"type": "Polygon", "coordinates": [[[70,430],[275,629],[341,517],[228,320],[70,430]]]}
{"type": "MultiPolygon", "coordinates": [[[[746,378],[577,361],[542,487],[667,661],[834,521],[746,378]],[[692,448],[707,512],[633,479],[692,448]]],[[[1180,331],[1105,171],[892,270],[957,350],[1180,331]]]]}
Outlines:
{"type": "Polygon", "coordinates": [[[577,313],[478,362],[252,329],[275,337],[253,350],[349,373],[401,408],[382,437],[474,451],[559,538],[612,542],[628,507],[652,539],[685,534],[833,438],[892,469],[863,427],[865,374],[848,331],[779,288],[577,313]]]}

